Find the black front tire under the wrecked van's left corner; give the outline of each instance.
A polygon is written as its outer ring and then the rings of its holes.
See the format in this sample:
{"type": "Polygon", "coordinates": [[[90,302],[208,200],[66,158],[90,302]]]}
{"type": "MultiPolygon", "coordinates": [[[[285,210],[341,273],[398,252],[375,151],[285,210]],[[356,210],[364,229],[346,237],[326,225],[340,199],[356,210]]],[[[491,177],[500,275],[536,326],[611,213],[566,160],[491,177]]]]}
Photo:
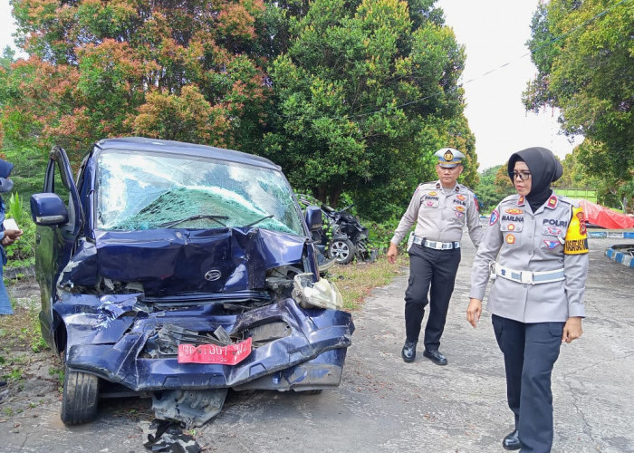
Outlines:
{"type": "Polygon", "coordinates": [[[95,419],[99,400],[99,378],[66,368],[63,379],[62,422],[79,425],[95,419]]]}

